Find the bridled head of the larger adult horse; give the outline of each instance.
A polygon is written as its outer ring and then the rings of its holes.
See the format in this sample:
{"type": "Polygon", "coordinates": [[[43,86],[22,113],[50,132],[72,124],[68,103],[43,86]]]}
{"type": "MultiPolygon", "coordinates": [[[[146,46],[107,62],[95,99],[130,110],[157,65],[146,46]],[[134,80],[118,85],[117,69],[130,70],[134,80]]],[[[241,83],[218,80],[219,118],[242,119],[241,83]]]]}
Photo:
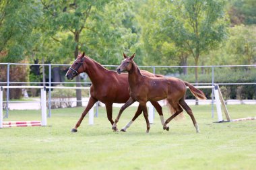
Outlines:
{"type": "Polygon", "coordinates": [[[83,54],[79,54],[77,58],[74,60],[71,67],[69,67],[69,70],[66,73],[66,77],[69,80],[73,80],[73,78],[80,73],[84,72],[84,60],[85,60],[84,52],[83,54]]]}

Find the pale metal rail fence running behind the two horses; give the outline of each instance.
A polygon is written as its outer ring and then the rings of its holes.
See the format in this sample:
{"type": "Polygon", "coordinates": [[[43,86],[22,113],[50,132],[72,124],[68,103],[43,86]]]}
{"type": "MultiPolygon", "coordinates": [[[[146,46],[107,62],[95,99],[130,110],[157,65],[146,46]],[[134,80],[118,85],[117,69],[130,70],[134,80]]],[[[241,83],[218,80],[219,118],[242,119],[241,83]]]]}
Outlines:
{"type": "MultiPolygon", "coordinates": [[[[80,82],[80,83],[76,83],[76,82],[63,82],[63,81],[53,81],[53,68],[55,67],[62,67],[64,69],[62,69],[64,72],[69,68],[70,65],[58,65],[58,64],[20,64],[20,63],[0,63],[0,67],[1,69],[5,69],[6,70],[6,81],[0,82],[1,86],[12,86],[12,85],[47,85],[47,88],[49,89],[48,93],[49,93],[49,99],[48,99],[48,116],[51,116],[51,101],[53,101],[51,99],[51,89],[53,89],[53,87],[56,84],[63,84],[63,85],[70,85],[70,84],[82,84],[82,86],[88,86],[90,85],[90,80],[87,79],[86,74],[82,75],[82,77],[84,77],[84,82],[80,82]],[[15,67],[18,65],[23,65],[25,67],[31,67],[31,66],[38,66],[38,67],[48,67],[47,69],[43,69],[43,75],[45,75],[45,77],[48,78],[48,81],[34,81],[34,82],[27,82],[27,81],[11,81],[11,76],[10,76],[10,68],[11,67],[15,67]]],[[[108,69],[115,69],[117,68],[117,65],[104,65],[104,67],[108,68],[108,69]]],[[[215,83],[218,83],[218,85],[253,85],[254,88],[254,96],[256,96],[256,79],[253,82],[244,82],[244,83],[230,83],[230,82],[216,82],[216,75],[219,77],[220,74],[225,74],[224,71],[222,71],[222,69],[224,68],[224,70],[226,71],[227,69],[230,68],[234,68],[234,69],[244,69],[244,70],[248,70],[248,69],[253,69],[255,70],[256,65],[222,65],[222,66],[139,66],[141,69],[146,69],[152,73],[155,74],[162,74],[162,75],[167,75],[167,76],[174,76],[177,77],[177,73],[179,71],[179,69],[191,69],[193,72],[193,69],[195,69],[196,67],[201,69],[201,71],[206,72],[207,74],[207,79],[209,79],[209,77],[211,77],[211,82],[209,83],[195,83],[195,80],[191,79],[191,77],[189,77],[189,82],[192,83],[193,85],[214,85],[215,83]]],[[[231,70],[232,72],[232,70],[231,70]]],[[[1,75],[2,77],[2,75],[1,75]]],[[[0,77],[0,80],[1,80],[0,77]]],[[[178,74],[179,77],[179,74],[178,74]]],[[[217,77],[217,78],[218,78],[217,77]]],[[[186,77],[184,78],[186,80],[186,77]]],[[[231,78],[232,79],[232,78],[231,78]]],[[[10,101],[9,100],[9,88],[7,88],[6,91],[6,115],[5,118],[8,118],[8,105],[11,102],[17,102],[17,101],[10,101]]],[[[212,89],[212,94],[211,94],[211,101],[206,101],[206,102],[210,102],[212,103],[212,118],[214,117],[214,89],[212,89]]],[[[80,100],[83,101],[83,100],[80,100]]],[[[203,102],[203,101],[200,101],[203,102]]],[[[251,102],[251,101],[248,101],[251,102]]],[[[255,101],[254,101],[255,102],[255,101]]],[[[98,104],[97,104],[98,105],[98,104]]],[[[96,112],[96,114],[98,114],[98,111],[96,112]]]]}

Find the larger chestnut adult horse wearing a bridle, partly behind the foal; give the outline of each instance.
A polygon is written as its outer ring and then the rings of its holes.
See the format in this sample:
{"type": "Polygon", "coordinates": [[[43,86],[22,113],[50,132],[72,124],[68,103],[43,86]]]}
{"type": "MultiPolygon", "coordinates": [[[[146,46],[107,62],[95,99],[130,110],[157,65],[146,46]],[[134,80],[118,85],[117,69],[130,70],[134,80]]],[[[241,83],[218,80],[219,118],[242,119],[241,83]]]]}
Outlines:
{"type": "MultiPolygon", "coordinates": [[[[73,79],[75,76],[84,72],[87,73],[88,77],[92,81],[92,86],[90,87],[91,96],[86,109],[71,132],[77,132],[77,128],[82,123],[84,116],[86,116],[97,101],[101,101],[106,105],[108,120],[113,125],[113,103],[125,103],[130,97],[127,74],[118,75],[115,71],[109,71],[102,67],[98,62],[92,60],[88,56],[85,56],[83,53],[77,56],[76,60],[67,71],[66,77],[67,79],[73,79]]],[[[142,74],[147,75],[148,77],[162,77],[161,75],[154,75],[148,71],[142,71],[142,74]]],[[[156,108],[162,124],[164,124],[162,107],[157,101],[152,101],[151,103],[154,105],[154,108],[156,108]]],[[[141,112],[142,110],[139,106],[136,113],[141,114],[141,112]]],[[[168,128],[166,130],[168,130],[168,128]]]]}

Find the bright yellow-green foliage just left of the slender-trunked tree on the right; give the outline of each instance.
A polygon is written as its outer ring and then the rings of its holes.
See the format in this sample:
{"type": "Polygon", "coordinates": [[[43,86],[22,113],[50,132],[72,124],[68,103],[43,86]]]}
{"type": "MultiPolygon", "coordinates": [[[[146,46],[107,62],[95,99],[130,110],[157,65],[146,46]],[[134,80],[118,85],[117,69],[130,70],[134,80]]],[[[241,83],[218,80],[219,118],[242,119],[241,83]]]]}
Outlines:
{"type": "MultiPolygon", "coordinates": [[[[144,65],[180,65],[181,52],[170,37],[161,32],[160,21],[164,15],[161,1],[137,1],[137,23],[140,28],[139,48],[144,65]],[[164,63],[164,64],[163,64],[164,63]]],[[[170,71],[168,69],[167,71],[170,71]]]]}

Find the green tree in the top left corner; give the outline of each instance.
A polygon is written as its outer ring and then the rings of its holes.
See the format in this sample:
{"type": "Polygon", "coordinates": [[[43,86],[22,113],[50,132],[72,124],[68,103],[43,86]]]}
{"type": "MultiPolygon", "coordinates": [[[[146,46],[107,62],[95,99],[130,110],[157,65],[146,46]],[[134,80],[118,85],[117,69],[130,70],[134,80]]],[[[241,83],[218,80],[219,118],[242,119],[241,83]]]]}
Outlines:
{"type": "Polygon", "coordinates": [[[33,48],[41,9],[38,1],[0,1],[0,52],[7,54],[6,62],[19,62],[33,48]]]}

